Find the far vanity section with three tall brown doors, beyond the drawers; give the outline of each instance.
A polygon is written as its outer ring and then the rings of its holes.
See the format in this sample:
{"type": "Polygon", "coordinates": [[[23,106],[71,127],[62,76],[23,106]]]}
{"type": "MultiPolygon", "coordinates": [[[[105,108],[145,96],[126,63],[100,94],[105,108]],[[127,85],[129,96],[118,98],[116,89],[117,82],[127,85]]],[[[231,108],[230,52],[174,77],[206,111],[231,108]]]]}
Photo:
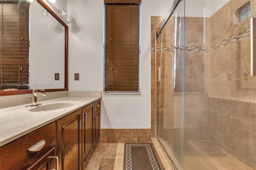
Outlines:
{"type": "Polygon", "coordinates": [[[88,162],[100,137],[100,100],[96,102],[57,121],[56,145],[60,170],[83,170],[88,162]]]}

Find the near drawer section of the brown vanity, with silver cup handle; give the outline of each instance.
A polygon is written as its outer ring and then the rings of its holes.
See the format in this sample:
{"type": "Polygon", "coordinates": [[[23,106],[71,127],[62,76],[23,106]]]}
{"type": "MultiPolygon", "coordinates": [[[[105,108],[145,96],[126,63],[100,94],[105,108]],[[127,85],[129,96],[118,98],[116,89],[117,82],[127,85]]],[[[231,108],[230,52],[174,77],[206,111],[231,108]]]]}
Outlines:
{"type": "Polygon", "coordinates": [[[56,169],[55,160],[49,158],[49,156],[55,156],[55,128],[55,122],[50,123],[2,146],[0,148],[0,169],[24,170],[28,168],[35,170],[43,167],[56,169]],[[37,151],[29,151],[28,149],[35,144],[40,144],[43,147],[37,151]]]}

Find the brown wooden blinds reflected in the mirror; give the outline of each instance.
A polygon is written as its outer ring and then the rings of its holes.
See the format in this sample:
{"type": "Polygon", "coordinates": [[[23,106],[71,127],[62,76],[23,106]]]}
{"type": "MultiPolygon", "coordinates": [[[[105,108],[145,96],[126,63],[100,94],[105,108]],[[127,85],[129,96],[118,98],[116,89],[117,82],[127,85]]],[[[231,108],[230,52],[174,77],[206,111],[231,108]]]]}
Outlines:
{"type": "Polygon", "coordinates": [[[0,90],[28,89],[29,3],[6,0],[0,5],[0,90]]]}

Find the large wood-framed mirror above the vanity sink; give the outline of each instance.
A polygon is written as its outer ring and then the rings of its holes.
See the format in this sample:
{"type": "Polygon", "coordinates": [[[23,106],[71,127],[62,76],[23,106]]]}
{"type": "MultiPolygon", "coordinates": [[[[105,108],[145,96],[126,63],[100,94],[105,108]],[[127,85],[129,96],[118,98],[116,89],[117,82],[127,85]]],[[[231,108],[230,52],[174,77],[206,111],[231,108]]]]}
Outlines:
{"type": "Polygon", "coordinates": [[[0,95],[67,90],[68,26],[43,0],[0,3],[0,95]]]}

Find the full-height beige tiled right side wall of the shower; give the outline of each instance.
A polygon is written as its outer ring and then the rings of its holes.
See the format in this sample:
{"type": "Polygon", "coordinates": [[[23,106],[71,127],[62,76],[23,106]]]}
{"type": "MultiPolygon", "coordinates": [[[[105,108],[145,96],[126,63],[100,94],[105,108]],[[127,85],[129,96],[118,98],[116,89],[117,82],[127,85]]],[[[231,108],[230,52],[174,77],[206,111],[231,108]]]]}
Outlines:
{"type": "Polygon", "coordinates": [[[210,49],[208,63],[209,139],[256,169],[256,77],[250,76],[250,36],[246,31],[250,30],[250,18],[256,17],[256,0],[250,1],[249,18],[236,23],[234,15],[247,2],[230,0],[210,17],[211,48],[221,45],[210,49]]]}

